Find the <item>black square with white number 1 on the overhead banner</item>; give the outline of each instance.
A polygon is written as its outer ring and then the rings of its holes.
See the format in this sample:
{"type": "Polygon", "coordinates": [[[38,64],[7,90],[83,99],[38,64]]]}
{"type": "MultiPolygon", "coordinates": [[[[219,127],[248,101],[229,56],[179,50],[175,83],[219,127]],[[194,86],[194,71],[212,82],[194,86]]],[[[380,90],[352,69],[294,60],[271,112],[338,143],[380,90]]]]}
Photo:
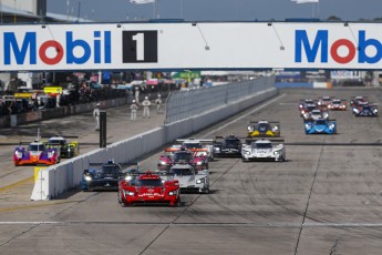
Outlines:
{"type": "Polygon", "coordinates": [[[123,63],[158,62],[158,31],[123,31],[123,63]]]}

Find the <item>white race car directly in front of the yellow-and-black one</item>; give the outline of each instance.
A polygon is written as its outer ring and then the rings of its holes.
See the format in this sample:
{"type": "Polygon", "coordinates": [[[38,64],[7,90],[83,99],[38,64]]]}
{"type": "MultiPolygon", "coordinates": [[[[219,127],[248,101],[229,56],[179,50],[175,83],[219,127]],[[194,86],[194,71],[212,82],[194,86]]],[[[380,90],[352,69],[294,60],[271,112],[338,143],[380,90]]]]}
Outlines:
{"type": "Polygon", "coordinates": [[[241,146],[241,160],[247,161],[286,161],[283,139],[246,140],[241,146]]]}

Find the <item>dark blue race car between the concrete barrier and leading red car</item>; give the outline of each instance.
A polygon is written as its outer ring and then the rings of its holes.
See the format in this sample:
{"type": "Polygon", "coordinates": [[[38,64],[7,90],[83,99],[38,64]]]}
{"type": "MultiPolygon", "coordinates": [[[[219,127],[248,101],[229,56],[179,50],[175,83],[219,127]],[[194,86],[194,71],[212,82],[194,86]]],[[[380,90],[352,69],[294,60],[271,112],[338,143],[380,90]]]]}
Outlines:
{"type": "Polygon", "coordinates": [[[89,165],[93,169],[84,170],[81,181],[82,191],[117,191],[120,180],[132,181],[131,173],[140,173],[137,163],[115,163],[110,160],[106,163],[90,163],[89,165]],[[123,165],[136,165],[136,170],[123,171],[123,165]]]}

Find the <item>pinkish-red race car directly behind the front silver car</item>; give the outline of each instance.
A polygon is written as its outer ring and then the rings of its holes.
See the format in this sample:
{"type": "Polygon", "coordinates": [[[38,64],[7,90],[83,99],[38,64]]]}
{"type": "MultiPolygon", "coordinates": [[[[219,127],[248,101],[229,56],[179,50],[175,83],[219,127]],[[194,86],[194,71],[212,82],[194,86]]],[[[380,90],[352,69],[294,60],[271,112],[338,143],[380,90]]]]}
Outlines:
{"type": "Polygon", "coordinates": [[[157,167],[161,171],[169,171],[175,164],[189,164],[197,171],[208,169],[208,155],[206,149],[189,149],[173,145],[165,150],[166,155],[161,155],[157,167]]]}

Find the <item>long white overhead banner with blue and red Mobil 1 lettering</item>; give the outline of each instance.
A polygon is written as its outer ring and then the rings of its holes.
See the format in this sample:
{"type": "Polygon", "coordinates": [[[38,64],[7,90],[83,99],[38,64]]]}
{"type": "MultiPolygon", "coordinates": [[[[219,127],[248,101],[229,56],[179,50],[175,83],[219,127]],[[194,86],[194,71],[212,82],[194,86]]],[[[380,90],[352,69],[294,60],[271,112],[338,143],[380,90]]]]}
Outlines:
{"type": "Polygon", "coordinates": [[[12,24],[0,71],[379,70],[381,23],[12,24]]]}

